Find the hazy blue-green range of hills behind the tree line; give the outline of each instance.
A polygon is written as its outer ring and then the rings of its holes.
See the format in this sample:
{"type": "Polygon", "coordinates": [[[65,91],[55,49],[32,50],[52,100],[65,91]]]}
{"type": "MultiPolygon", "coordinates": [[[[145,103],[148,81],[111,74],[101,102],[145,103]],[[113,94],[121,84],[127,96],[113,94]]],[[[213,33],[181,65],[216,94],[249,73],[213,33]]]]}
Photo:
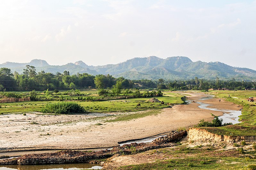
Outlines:
{"type": "Polygon", "coordinates": [[[156,56],[145,58],[133,58],[118,64],[103,66],[88,66],[82,61],[68,63],[61,66],[49,65],[44,60],[32,60],[30,63],[0,64],[0,67],[7,67],[12,72],[23,72],[26,65],[33,65],[37,72],[61,72],[67,70],[70,74],[110,74],[114,77],[127,79],[193,79],[195,77],[204,79],[218,78],[244,78],[244,80],[256,80],[256,71],[247,68],[236,68],[220,62],[192,62],[188,57],[175,56],[162,59],[156,56]]]}

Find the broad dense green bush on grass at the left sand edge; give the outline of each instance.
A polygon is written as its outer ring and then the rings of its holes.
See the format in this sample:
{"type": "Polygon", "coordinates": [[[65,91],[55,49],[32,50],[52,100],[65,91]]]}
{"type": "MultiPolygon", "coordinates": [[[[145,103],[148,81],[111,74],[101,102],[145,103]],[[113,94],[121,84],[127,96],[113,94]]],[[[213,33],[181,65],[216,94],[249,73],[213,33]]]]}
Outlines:
{"type": "Polygon", "coordinates": [[[71,113],[83,113],[86,110],[74,102],[58,102],[48,103],[41,108],[42,113],[56,113],[56,114],[71,114],[71,113]]]}

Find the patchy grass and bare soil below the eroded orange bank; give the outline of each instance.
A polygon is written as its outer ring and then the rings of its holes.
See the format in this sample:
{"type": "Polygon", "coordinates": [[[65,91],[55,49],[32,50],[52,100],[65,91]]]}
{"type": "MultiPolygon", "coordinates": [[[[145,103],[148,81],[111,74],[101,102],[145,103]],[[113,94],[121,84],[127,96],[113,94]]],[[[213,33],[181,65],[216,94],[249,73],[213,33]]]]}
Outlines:
{"type": "MultiPolygon", "coordinates": [[[[254,159],[255,150],[250,149],[244,153],[236,150],[219,150],[219,148],[208,147],[187,147],[185,145],[151,150],[149,153],[155,161],[139,165],[122,166],[120,170],[139,169],[179,169],[179,170],[208,170],[208,169],[244,169],[247,170],[256,163],[254,159]]],[[[147,156],[146,155],[146,156],[147,156]]]]}

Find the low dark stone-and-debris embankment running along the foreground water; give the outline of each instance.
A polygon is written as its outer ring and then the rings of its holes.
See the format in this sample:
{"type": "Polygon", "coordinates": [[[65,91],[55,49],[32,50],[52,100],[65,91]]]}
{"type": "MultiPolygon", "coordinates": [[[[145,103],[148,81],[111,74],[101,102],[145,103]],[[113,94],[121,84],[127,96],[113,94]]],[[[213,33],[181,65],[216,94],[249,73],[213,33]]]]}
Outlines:
{"type": "Polygon", "coordinates": [[[111,150],[102,150],[94,152],[82,151],[61,151],[43,154],[27,154],[18,158],[0,160],[0,165],[39,165],[39,164],[70,164],[70,163],[90,163],[95,159],[109,158],[115,154],[130,155],[151,149],[166,148],[175,146],[182,137],[185,137],[186,131],[172,131],[166,137],[159,137],[151,143],[131,143],[123,146],[114,147],[111,150]]]}

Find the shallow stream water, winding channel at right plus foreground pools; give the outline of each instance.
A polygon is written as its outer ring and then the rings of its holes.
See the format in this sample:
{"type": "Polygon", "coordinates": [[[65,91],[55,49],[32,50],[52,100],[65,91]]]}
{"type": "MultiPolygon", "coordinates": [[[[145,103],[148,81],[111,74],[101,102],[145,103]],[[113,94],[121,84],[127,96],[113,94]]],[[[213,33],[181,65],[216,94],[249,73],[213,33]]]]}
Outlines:
{"type": "MultiPolygon", "coordinates": [[[[210,106],[210,104],[206,104],[203,102],[200,102],[200,100],[208,100],[212,99],[214,95],[207,95],[206,97],[202,97],[199,100],[196,100],[195,102],[200,104],[198,107],[202,109],[207,109],[207,110],[213,110],[213,111],[220,111],[223,112],[222,116],[219,116],[219,118],[223,119],[222,123],[240,123],[238,121],[239,115],[242,115],[242,111],[236,111],[236,110],[225,110],[225,109],[216,109],[216,108],[209,108],[207,106],[210,106]]],[[[189,104],[193,102],[193,100],[186,100],[186,102],[189,104]]],[[[154,139],[158,137],[162,137],[165,135],[157,136],[157,137],[147,137],[143,139],[135,139],[135,140],[130,140],[126,142],[120,142],[120,146],[124,144],[131,144],[131,143],[149,143],[152,142],[154,139]]],[[[109,148],[112,149],[112,148],[109,148]]],[[[99,166],[97,164],[54,164],[54,165],[4,165],[0,166],[0,170],[77,170],[77,169],[102,169],[102,166],[99,166]]]]}

